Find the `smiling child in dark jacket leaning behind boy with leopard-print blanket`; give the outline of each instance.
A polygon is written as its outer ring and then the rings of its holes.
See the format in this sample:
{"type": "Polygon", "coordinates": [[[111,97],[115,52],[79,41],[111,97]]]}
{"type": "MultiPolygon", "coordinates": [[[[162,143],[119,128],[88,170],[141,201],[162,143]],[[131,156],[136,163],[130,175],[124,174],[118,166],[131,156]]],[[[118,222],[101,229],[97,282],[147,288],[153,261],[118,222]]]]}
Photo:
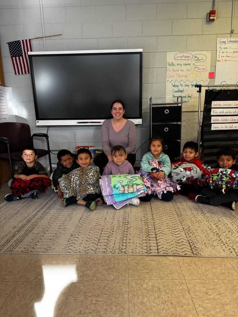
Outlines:
{"type": "Polygon", "coordinates": [[[59,178],[69,174],[69,172],[75,170],[79,167],[76,162],[76,155],[71,153],[68,150],[60,150],[57,154],[57,167],[53,172],[53,184],[57,188],[57,196],[58,198],[63,198],[63,192],[60,189],[59,178]]]}

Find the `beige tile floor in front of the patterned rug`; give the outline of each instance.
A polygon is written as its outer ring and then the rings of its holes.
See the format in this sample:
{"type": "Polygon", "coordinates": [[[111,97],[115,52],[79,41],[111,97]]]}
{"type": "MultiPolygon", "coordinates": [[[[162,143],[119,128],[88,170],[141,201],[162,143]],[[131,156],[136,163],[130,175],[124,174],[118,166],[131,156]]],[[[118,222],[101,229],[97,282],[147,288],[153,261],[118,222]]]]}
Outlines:
{"type": "Polygon", "coordinates": [[[0,317],[237,315],[238,259],[0,254],[0,317]]]}

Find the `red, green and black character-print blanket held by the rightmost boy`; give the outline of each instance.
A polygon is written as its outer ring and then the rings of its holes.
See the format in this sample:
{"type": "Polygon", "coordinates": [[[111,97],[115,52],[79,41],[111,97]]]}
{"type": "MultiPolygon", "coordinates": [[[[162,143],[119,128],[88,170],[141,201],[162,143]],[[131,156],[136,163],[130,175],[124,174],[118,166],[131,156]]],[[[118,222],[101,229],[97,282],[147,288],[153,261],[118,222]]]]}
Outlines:
{"type": "Polygon", "coordinates": [[[211,188],[220,188],[223,192],[229,188],[238,189],[238,172],[224,168],[207,168],[200,185],[209,185],[211,188]]]}

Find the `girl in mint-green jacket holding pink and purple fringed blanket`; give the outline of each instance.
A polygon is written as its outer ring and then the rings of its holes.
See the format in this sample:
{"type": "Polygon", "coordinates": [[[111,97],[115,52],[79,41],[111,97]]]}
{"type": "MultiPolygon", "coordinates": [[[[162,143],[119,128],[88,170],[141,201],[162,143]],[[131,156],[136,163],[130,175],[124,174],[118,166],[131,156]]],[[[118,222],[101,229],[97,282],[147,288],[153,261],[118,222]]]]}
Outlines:
{"type": "Polygon", "coordinates": [[[162,200],[170,201],[174,197],[173,191],[180,188],[174,182],[165,179],[170,173],[171,165],[169,156],[163,152],[163,146],[162,138],[151,139],[149,152],[142,157],[140,175],[147,188],[147,194],[140,197],[141,201],[150,201],[154,194],[162,200]],[[151,174],[153,171],[154,175],[151,174]]]}

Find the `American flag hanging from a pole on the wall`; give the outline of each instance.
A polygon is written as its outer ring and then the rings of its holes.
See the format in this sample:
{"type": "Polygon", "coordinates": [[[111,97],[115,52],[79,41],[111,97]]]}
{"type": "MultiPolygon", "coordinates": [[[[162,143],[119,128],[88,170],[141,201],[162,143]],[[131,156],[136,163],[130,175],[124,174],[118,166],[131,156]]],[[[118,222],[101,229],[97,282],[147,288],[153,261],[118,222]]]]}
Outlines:
{"type": "Polygon", "coordinates": [[[31,52],[30,39],[8,43],[13,68],[16,75],[30,74],[27,52],[31,52]]]}

